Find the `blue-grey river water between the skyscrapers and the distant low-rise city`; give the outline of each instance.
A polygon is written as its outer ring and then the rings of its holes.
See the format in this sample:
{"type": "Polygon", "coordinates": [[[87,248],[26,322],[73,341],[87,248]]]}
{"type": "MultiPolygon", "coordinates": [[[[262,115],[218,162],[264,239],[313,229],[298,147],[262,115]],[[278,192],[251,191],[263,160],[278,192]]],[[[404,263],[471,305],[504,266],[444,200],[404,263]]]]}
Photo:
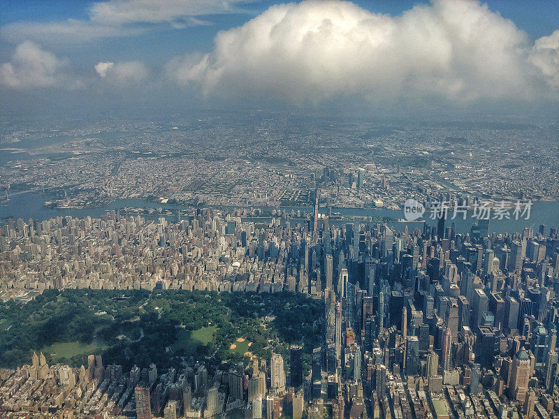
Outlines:
{"type": "MultiPolygon", "coordinates": [[[[76,218],[83,218],[85,216],[92,216],[94,218],[103,216],[107,211],[111,210],[121,210],[122,208],[162,208],[164,210],[187,210],[188,205],[173,205],[173,204],[161,204],[158,202],[152,202],[142,199],[122,199],[115,200],[114,202],[103,205],[101,207],[94,208],[80,208],[80,209],[57,209],[45,207],[43,204],[45,201],[52,199],[48,193],[22,193],[10,198],[10,200],[0,201],[0,219],[7,219],[9,217],[21,218],[24,220],[34,219],[34,220],[44,220],[52,219],[57,216],[73,216],[76,218]]],[[[261,207],[262,210],[268,211],[273,208],[261,207]]],[[[286,212],[297,212],[300,210],[301,213],[312,212],[312,207],[282,207],[282,210],[286,212]]],[[[321,208],[321,214],[328,213],[327,208],[321,208]]],[[[396,220],[403,219],[402,210],[389,210],[386,208],[332,208],[332,212],[340,213],[344,216],[382,216],[389,217],[396,220]]],[[[154,214],[154,218],[157,218],[159,214],[154,214]]],[[[428,216],[428,213],[426,213],[428,216]]],[[[265,217],[269,220],[269,217],[265,217]]],[[[173,221],[173,220],[171,220],[173,221]]],[[[436,220],[426,219],[426,221],[432,225],[436,225],[436,220]]],[[[466,220],[463,220],[458,216],[454,220],[447,220],[447,226],[450,226],[454,221],[456,224],[456,231],[458,233],[465,233],[470,231],[470,227],[476,221],[470,216],[466,220]]],[[[331,223],[340,224],[347,223],[349,221],[337,221],[332,220],[331,223]]],[[[423,219],[419,221],[412,222],[400,222],[391,221],[388,223],[389,226],[393,226],[398,230],[403,230],[404,226],[407,225],[409,231],[414,228],[423,228],[423,219]]],[[[532,205],[532,211],[530,214],[530,219],[503,219],[503,220],[491,220],[489,224],[490,233],[521,233],[524,227],[532,227],[537,230],[540,224],[546,224],[549,227],[556,226],[559,227],[559,202],[545,202],[545,201],[535,201],[532,205]]]]}

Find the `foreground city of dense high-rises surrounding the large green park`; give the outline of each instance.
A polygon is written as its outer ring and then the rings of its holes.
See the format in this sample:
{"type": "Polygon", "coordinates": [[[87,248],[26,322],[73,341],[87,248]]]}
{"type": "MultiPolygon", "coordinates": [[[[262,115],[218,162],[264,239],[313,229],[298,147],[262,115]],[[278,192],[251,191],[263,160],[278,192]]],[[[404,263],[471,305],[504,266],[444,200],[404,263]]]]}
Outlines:
{"type": "Polygon", "coordinates": [[[3,416],[559,417],[557,228],[335,222],[329,173],[302,214],[6,220],[3,416]]]}

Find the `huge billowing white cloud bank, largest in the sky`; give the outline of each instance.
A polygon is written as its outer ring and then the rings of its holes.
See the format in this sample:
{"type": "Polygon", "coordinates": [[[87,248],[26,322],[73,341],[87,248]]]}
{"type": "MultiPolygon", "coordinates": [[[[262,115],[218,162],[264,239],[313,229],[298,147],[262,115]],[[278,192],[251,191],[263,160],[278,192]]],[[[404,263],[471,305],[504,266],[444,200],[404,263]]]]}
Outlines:
{"type": "Polygon", "coordinates": [[[555,101],[559,31],[530,45],[477,1],[433,0],[398,17],[346,1],[281,4],[223,31],[212,52],[176,57],[167,75],[206,94],[318,103],[441,98],[555,101]]]}

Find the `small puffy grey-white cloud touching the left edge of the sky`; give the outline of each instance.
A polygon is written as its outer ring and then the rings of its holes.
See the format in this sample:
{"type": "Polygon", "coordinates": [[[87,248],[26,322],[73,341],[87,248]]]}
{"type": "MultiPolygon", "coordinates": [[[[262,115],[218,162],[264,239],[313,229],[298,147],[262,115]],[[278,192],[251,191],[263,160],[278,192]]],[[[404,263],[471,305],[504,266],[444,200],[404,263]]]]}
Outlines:
{"type": "Polygon", "coordinates": [[[80,82],[71,75],[68,59],[41,49],[31,41],[17,45],[7,63],[0,65],[0,84],[13,88],[80,87],[80,82]]]}

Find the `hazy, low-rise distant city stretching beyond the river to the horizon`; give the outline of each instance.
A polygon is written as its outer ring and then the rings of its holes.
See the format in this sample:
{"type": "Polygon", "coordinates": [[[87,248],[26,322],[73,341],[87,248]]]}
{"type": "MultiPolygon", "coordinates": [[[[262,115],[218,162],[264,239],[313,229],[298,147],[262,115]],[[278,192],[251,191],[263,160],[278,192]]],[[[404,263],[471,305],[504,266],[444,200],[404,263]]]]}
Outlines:
{"type": "MultiPolygon", "coordinates": [[[[400,207],[442,192],[556,200],[554,126],[373,124],[333,117],[205,115],[5,124],[3,195],[57,191],[50,205],[124,198],[209,206],[400,207]],[[79,125],[80,128],[75,128],[79,125]],[[35,147],[31,147],[35,145],[35,147]]],[[[17,216],[17,214],[16,214],[17,216]]]]}

